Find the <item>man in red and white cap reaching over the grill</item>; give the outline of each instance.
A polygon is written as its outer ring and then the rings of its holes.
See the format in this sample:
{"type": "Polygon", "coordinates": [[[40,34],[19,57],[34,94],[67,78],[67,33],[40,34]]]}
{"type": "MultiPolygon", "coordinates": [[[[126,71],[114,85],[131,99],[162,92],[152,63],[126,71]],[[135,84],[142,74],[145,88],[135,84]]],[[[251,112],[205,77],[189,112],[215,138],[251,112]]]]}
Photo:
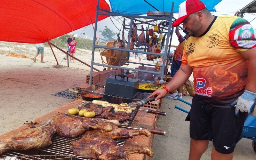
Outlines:
{"type": "Polygon", "coordinates": [[[179,18],[190,36],[182,64],[156,100],[178,88],[193,72],[196,95],[190,121],[189,159],[200,159],[212,140],[212,159],[232,159],[247,114],[256,98],[256,29],[242,18],[213,16],[199,0],[179,6],[179,18]]]}

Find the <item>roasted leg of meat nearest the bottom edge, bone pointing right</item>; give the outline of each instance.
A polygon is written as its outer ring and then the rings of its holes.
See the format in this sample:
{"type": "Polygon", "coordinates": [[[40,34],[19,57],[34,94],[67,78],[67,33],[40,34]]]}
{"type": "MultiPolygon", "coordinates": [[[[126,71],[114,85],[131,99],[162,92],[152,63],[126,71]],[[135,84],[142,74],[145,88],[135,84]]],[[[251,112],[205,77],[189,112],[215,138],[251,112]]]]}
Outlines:
{"type": "Polygon", "coordinates": [[[116,141],[108,137],[83,136],[80,140],[72,141],[70,149],[76,156],[100,160],[128,160],[129,154],[147,154],[153,157],[151,148],[124,148],[117,146],[116,141]]]}

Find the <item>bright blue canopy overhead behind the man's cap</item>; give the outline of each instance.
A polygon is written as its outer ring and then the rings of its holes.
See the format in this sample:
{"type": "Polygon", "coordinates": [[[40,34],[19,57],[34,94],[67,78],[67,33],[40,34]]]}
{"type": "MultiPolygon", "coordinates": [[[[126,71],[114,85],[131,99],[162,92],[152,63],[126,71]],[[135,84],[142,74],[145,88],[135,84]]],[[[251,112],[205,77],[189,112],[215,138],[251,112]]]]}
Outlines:
{"type": "MultiPolygon", "coordinates": [[[[174,13],[179,12],[179,5],[185,0],[146,0],[159,11],[171,12],[172,2],[174,2],[174,13]]],[[[221,0],[201,0],[206,8],[211,12],[216,12],[214,6],[220,3],[221,0]]],[[[156,11],[144,0],[109,0],[111,9],[113,11],[124,11],[127,13],[142,13],[146,14],[148,11],[156,11]]]]}

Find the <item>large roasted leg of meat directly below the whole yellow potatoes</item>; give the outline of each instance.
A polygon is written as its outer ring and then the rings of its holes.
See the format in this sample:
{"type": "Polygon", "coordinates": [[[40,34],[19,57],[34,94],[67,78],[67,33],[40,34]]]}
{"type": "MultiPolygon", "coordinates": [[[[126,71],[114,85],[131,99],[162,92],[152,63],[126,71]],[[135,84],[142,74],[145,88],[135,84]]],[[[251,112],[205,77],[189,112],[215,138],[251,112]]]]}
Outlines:
{"type": "Polygon", "coordinates": [[[56,129],[57,134],[60,136],[77,137],[89,128],[100,129],[106,132],[112,131],[113,128],[109,124],[110,122],[117,126],[120,125],[117,120],[59,114],[52,118],[50,125],[56,129]]]}

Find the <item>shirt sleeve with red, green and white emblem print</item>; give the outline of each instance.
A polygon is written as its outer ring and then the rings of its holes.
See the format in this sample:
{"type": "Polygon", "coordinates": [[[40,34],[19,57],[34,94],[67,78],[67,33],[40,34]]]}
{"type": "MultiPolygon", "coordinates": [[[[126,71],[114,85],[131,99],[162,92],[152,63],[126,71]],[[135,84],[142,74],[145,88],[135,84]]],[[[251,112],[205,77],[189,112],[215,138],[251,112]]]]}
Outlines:
{"type": "Polygon", "coordinates": [[[256,46],[256,30],[243,18],[234,20],[230,26],[229,42],[237,52],[244,52],[256,46]]]}

